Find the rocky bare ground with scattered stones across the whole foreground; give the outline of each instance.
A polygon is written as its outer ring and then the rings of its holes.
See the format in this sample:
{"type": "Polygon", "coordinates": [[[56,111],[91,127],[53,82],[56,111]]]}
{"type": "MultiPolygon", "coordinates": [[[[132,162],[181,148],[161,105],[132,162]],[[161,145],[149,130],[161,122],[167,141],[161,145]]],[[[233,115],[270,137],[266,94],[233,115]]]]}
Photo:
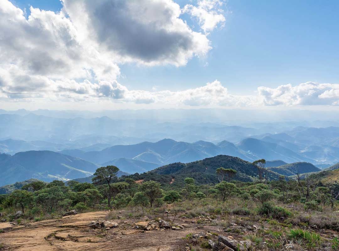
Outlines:
{"type": "Polygon", "coordinates": [[[275,231],[290,228],[282,225],[246,216],[186,218],[166,211],[149,219],[128,211],[99,211],[40,222],[2,222],[0,250],[335,250],[330,241],[338,236],[336,231],[316,230],[323,245],[302,249],[279,239],[275,231]]]}

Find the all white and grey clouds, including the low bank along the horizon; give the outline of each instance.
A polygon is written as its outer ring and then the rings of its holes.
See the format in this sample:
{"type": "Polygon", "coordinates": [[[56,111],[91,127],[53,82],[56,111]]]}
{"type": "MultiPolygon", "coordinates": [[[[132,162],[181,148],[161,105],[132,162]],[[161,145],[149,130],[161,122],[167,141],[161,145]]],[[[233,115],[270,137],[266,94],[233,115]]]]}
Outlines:
{"type": "Polygon", "coordinates": [[[225,21],[221,0],[199,0],[183,10],[171,0],[63,0],[60,13],[8,0],[0,4],[0,98],[133,102],[168,106],[338,105],[339,84],[314,82],[257,94],[232,95],[219,81],[182,91],[128,90],[117,82],[119,64],[185,65],[211,49],[207,33],[225,21]],[[198,18],[194,32],[182,11],[198,18]]]}

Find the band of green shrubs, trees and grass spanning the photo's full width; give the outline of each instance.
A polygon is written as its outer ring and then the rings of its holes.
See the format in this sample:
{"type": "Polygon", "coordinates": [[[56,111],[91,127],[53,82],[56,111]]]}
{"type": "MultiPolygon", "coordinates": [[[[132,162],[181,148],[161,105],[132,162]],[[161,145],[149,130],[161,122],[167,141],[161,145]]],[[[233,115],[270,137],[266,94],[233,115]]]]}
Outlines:
{"type": "MultiPolygon", "coordinates": [[[[261,165],[260,168],[265,168],[262,160],[256,163],[261,165]]],[[[174,165],[178,166],[180,164],[174,165]]],[[[196,170],[205,166],[206,162],[191,164],[196,170]]],[[[251,163],[248,163],[248,166],[259,172],[251,163]]],[[[175,172],[185,169],[184,166],[175,172]]],[[[169,176],[171,180],[162,180],[163,183],[154,180],[140,181],[133,178],[142,175],[146,175],[148,179],[152,175],[159,178],[157,175],[160,174],[148,172],[117,177],[118,167],[100,167],[94,174],[92,184],[69,181],[66,185],[57,180],[51,183],[33,181],[26,184],[19,190],[0,196],[0,211],[5,219],[12,221],[16,211],[21,210],[23,216],[17,222],[22,224],[29,218],[34,221],[58,218],[73,209],[78,212],[125,209],[126,213],[119,217],[158,218],[159,214],[163,214],[168,208],[174,218],[177,214],[181,217],[196,218],[197,224],[219,226],[230,234],[239,235],[244,231],[234,227],[237,225],[253,228],[253,225],[265,223],[265,230],[258,229],[243,237],[257,245],[258,249],[264,249],[261,245],[266,242],[264,250],[282,250],[283,245],[289,243],[300,245],[307,250],[317,250],[324,245],[324,239],[315,231],[339,230],[339,216],[335,213],[339,209],[339,186],[323,184],[311,178],[286,180],[280,176],[277,180],[266,180],[265,170],[262,173],[262,182],[260,178],[246,182],[234,180],[239,177],[239,172],[233,168],[227,170],[219,166],[211,169],[214,169],[218,176],[223,175],[220,182],[204,184],[187,175],[184,178],[179,176],[181,180],[177,184],[182,184],[181,186],[174,183],[171,186],[169,183],[173,181],[173,176],[169,176]],[[322,212],[319,213],[320,211],[322,212]]],[[[161,168],[160,171],[167,172],[168,168],[161,168]]],[[[208,177],[210,172],[203,174],[208,177]]],[[[253,175],[260,176],[256,172],[253,175]]],[[[175,179],[178,179],[178,176],[175,176],[175,179]]],[[[108,217],[117,218],[117,215],[112,213],[108,217]]],[[[192,236],[188,236],[187,240],[190,238],[192,236]]],[[[333,237],[327,243],[335,250],[339,242],[333,237]]],[[[199,240],[198,246],[197,250],[209,248],[206,239],[199,240]]]]}

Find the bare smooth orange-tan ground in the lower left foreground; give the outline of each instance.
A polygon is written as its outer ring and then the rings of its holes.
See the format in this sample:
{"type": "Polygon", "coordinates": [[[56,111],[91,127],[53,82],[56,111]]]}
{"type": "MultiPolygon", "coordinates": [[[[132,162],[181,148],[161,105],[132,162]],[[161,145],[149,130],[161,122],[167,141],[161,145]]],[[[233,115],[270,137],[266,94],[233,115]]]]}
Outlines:
{"type": "Polygon", "coordinates": [[[0,234],[0,243],[4,243],[4,250],[16,251],[174,251],[185,250],[183,237],[188,233],[201,231],[195,224],[181,219],[176,220],[176,223],[185,225],[181,230],[143,232],[135,229],[135,222],[140,219],[112,220],[119,227],[107,231],[88,227],[89,223],[104,219],[106,215],[106,211],[83,213],[26,226],[1,223],[4,233],[0,234]]]}

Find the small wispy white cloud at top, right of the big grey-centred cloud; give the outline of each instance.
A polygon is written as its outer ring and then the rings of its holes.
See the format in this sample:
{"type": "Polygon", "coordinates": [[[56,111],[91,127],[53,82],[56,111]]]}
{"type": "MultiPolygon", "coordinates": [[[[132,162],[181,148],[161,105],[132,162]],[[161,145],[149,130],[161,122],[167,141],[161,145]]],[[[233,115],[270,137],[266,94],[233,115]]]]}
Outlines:
{"type": "Polygon", "coordinates": [[[223,15],[222,5],[222,0],[198,0],[196,6],[186,4],[183,12],[197,18],[204,33],[207,34],[218,25],[224,24],[226,19],[223,15]]]}

